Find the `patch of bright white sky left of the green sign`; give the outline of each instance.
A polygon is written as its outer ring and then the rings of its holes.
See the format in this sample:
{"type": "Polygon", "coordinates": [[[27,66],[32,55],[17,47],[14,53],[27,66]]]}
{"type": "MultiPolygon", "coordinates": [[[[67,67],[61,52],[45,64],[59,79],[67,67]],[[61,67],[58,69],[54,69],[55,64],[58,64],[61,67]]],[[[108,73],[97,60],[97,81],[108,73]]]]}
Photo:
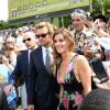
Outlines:
{"type": "Polygon", "coordinates": [[[8,20],[8,0],[0,0],[0,20],[8,20]]]}

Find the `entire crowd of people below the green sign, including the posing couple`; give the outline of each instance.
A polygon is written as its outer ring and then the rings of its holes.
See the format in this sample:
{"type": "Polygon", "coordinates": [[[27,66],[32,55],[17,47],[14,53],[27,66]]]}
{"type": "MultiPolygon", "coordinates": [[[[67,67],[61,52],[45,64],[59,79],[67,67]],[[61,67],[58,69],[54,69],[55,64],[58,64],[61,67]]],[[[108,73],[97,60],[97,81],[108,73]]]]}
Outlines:
{"type": "MultiPolygon", "coordinates": [[[[22,110],[109,110],[102,94],[110,80],[101,84],[90,65],[95,57],[110,61],[110,50],[95,38],[110,37],[105,15],[76,9],[67,29],[38,22],[15,34],[0,42],[0,110],[16,110],[19,97],[22,110]]],[[[110,77],[110,64],[105,69],[110,77]]]]}

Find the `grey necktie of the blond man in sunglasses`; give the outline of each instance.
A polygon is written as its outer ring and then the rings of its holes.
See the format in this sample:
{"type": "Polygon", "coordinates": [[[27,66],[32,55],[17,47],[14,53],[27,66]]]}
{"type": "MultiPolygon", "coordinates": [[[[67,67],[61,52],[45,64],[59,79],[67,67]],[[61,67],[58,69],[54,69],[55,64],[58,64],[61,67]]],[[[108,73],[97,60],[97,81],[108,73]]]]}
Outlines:
{"type": "Polygon", "coordinates": [[[50,52],[47,50],[46,50],[46,57],[45,57],[45,67],[48,74],[52,74],[51,57],[50,57],[50,52]]]}

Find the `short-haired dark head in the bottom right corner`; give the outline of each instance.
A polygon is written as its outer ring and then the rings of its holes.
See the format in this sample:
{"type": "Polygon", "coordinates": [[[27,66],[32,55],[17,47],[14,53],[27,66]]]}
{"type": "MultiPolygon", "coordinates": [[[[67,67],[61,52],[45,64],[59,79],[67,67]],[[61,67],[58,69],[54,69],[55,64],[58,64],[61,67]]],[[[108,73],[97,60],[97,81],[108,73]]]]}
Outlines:
{"type": "Polygon", "coordinates": [[[110,110],[110,90],[92,90],[84,98],[79,110],[110,110]]]}

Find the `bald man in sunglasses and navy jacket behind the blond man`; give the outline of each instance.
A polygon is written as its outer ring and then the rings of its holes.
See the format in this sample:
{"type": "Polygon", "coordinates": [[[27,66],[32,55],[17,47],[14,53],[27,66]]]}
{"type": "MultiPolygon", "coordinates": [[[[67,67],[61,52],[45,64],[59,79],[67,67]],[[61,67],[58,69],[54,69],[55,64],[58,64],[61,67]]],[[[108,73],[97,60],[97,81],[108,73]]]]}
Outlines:
{"type": "Polygon", "coordinates": [[[26,100],[26,89],[25,86],[28,86],[28,73],[29,73],[29,63],[30,63],[30,53],[34,48],[36,48],[36,41],[35,41],[35,34],[31,31],[25,32],[23,34],[23,43],[25,44],[26,48],[22,53],[20,53],[16,57],[16,65],[15,68],[11,75],[11,80],[8,86],[8,90],[12,89],[12,86],[15,85],[16,80],[22,77],[23,84],[23,91],[21,91],[21,102],[23,106],[23,110],[26,110],[28,108],[28,100],[26,100]]]}

